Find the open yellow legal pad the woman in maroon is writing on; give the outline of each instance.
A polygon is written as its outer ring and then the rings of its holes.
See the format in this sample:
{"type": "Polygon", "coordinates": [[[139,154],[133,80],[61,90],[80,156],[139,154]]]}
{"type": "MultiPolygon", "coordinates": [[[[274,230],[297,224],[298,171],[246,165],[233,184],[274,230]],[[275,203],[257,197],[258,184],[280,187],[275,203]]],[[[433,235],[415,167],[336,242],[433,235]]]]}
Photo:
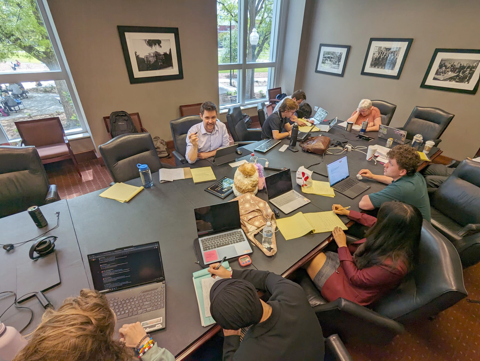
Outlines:
{"type": "Polygon", "coordinates": [[[324,233],[332,232],[335,227],[344,231],[348,229],[333,210],[305,214],[298,212],[291,217],[277,219],[276,225],[286,240],[299,238],[311,231],[324,233]]]}

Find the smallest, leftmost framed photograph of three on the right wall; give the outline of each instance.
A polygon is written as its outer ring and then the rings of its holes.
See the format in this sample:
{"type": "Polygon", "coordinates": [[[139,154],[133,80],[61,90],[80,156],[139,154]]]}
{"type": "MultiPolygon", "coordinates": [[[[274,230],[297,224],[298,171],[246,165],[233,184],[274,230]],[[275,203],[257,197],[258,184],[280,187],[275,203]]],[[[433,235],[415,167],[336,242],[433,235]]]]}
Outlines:
{"type": "Polygon", "coordinates": [[[315,72],[343,76],[349,51],[349,45],[320,44],[315,72]]]}

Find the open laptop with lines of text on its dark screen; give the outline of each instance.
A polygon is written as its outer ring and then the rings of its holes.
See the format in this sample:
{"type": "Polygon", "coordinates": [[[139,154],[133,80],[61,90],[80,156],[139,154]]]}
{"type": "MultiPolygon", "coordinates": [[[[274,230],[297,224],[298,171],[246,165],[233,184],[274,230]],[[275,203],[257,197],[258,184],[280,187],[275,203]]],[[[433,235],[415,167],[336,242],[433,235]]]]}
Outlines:
{"type": "Polygon", "coordinates": [[[158,242],[88,255],[94,288],[117,315],[116,329],[140,322],[146,332],[165,328],[165,275],[158,242]]]}

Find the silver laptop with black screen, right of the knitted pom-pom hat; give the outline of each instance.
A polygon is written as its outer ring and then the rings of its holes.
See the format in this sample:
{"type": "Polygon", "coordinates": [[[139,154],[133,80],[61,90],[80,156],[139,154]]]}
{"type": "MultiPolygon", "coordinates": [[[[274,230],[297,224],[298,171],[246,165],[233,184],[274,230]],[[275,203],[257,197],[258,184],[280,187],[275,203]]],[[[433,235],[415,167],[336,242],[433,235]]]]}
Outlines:
{"type": "Polygon", "coordinates": [[[290,169],[265,177],[268,200],[284,213],[290,213],[310,200],[293,190],[290,169]]]}

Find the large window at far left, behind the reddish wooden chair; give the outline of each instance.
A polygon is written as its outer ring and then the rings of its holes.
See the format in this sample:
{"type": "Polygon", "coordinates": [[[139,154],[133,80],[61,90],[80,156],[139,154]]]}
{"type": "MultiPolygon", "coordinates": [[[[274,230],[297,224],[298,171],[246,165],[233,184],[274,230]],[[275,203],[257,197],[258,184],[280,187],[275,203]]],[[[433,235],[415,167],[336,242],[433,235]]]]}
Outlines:
{"type": "Polygon", "coordinates": [[[86,131],[46,2],[37,1],[0,0],[0,106],[10,113],[0,116],[0,143],[19,139],[14,122],[29,119],[58,116],[67,135],[86,131]]]}

